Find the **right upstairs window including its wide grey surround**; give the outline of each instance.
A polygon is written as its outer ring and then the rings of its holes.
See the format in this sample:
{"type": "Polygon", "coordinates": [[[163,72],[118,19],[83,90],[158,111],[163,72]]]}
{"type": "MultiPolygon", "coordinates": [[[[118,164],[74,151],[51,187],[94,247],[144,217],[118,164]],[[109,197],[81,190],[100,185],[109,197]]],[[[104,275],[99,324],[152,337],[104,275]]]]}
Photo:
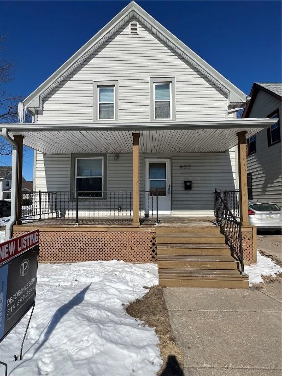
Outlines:
{"type": "Polygon", "coordinates": [[[150,78],[150,120],[175,120],[175,77],[150,78]]]}

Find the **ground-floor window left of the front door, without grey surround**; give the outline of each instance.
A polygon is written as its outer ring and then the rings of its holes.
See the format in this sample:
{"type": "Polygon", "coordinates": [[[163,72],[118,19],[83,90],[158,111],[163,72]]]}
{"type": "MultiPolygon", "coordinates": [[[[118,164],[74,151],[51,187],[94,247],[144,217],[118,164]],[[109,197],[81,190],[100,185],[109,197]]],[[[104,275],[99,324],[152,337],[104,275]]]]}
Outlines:
{"type": "Polygon", "coordinates": [[[102,197],[104,158],[76,157],[74,190],[78,197],[102,197]]]}

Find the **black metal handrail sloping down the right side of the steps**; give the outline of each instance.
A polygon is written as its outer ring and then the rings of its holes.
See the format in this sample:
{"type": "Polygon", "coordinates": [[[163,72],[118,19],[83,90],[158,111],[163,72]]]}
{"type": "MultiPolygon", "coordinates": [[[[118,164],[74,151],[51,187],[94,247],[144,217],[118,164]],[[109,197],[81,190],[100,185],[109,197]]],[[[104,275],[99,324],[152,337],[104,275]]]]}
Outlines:
{"type": "MultiPolygon", "coordinates": [[[[232,195],[226,195],[226,191],[214,191],[214,215],[216,222],[220,226],[223,234],[228,240],[228,243],[233,251],[233,256],[239,261],[240,272],[244,273],[243,260],[243,245],[242,245],[242,231],[240,222],[237,220],[234,207],[229,207],[226,198],[232,195]]],[[[233,191],[231,191],[233,192],[233,191]]],[[[231,200],[233,203],[233,200],[231,200]]]]}

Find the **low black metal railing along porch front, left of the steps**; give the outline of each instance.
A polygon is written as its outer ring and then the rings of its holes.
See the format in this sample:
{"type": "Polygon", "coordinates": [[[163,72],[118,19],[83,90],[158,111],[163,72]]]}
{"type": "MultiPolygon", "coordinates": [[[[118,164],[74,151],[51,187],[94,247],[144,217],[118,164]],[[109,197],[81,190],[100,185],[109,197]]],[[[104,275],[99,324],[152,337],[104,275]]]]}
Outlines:
{"type": "MultiPolygon", "coordinates": [[[[60,191],[22,192],[22,218],[69,219],[78,225],[81,220],[133,218],[132,191],[60,191]]],[[[140,191],[140,221],[150,218],[156,224],[158,192],[140,191]]]]}

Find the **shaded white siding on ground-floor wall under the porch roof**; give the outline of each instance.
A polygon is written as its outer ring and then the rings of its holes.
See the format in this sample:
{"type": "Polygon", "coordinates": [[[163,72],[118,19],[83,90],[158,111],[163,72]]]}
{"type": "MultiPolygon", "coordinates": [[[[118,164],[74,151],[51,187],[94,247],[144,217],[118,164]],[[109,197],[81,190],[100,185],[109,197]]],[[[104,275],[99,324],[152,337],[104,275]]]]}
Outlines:
{"type": "MultiPolygon", "coordinates": [[[[70,191],[71,155],[36,153],[36,190],[70,191]]],[[[171,158],[172,211],[180,215],[213,215],[213,191],[235,189],[235,148],[224,153],[141,154],[140,191],[144,190],[144,157],[171,158]],[[190,169],[181,169],[190,164],[190,169]],[[184,190],[184,181],[192,181],[192,190],[184,190]]],[[[109,191],[132,191],[132,153],[108,154],[109,191]]]]}

